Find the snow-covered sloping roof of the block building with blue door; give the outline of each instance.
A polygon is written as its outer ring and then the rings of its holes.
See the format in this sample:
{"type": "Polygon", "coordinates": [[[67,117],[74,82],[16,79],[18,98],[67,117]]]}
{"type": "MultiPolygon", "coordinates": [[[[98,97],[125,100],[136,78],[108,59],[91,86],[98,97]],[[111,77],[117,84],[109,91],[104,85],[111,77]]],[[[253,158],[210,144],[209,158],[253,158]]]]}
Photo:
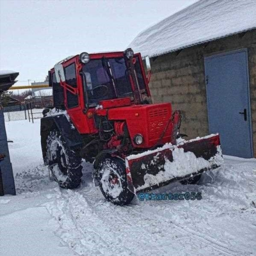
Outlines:
{"type": "Polygon", "coordinates": [[[129,47],[154,57],[255,28],[255,0],[201,0],[145,29],[129,47]]]}

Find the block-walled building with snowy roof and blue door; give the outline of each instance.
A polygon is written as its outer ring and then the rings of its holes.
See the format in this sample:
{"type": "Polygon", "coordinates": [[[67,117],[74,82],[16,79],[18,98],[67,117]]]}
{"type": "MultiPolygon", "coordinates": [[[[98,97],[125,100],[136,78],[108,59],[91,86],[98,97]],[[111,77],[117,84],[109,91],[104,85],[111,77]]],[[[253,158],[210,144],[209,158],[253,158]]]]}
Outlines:
{"type": "Polygon", "coordinates": [[[129,47],[150,56],[154,102],[182,111],[182,133],[220,132],[224,154],[256,157],[255,0],[198,1],[129,47]]]}

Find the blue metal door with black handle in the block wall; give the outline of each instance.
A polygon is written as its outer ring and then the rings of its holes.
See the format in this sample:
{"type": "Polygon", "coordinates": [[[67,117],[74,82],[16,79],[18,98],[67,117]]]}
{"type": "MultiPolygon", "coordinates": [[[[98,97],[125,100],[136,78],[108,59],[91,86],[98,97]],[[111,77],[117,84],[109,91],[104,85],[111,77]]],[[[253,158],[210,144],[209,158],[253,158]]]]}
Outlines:
{"type": "Polygon", "coordinates": [[[205,58],[209,130],[220,133],[223,154],[253,157],[247,50],[205,58]]]}

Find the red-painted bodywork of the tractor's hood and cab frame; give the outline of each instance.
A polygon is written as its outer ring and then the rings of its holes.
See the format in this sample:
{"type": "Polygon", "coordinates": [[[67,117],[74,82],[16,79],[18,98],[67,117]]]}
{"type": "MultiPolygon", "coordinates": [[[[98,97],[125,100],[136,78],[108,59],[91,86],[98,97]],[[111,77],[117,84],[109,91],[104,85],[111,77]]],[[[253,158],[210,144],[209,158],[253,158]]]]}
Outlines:
{"type": "MultiPolygon", "coordinates": [[[[103,56],[106,58],[123,57],[124,52],[90,54],[90,59],[101,59],[103,56]]],[[[138,58],[142,73],[141,75],[145,83],[145,90],[147,95],[150,97],[148,80],[145,76],[141,54],[134,54],[134,58],[138,58]]],[[[131,137],[131,143],[134,148],[150,148],[156,144],[163,133],[166,124],[168,124],[168,120],[172,116],[172,107],[170,103],[134,105],[134,102],[131,102],[129,97],[123,99],[102,100],[100,104],[103,109],[90,108],[87,111],[87,113],[89,112],[90,114],[87,116],[85,113],[83,82],[81,75],[79,74],[83,68],[83,64],[79,62],[79,55],[74,56],[68,61],[64,61],[62,65],[65,68],[72,63],[75,63],[76,65],[77,88],[72,88],[72,86],[63,82],[61,82],[61,86],[64,88],[65,108],[80,134],[93,134],[99,132],[95,126],[95,118],[93,118],[92,115],[107,116],[108,120],[116,121],[115,132],[118,136],[122,136],[124,134],[124,125],[127,125],[127,129],[131,137]],[[78,96],[78,106],[76,108],[68,108],[67,91],[78,96]],[[141,145],[136,145],[133,141],[136,134],[141,134],[143,136],[143,143],[141,145]]],[[[52,68],[51,72],[54,72],[54,68],[52,68]]],[[[131,76],[130,79],[132,90],[134,91],[135,85],[131,76]]],[[[166,133],[163,136],[161,144],[170,142],[171,134],[172,123],[168,126],[168,129],[166,129],[166,133]]],[[[108,142],[108,145],[104,147],[116,148],[118,145],[120,145],[120,141],[113,136],[113,138],[108,142]]]]}

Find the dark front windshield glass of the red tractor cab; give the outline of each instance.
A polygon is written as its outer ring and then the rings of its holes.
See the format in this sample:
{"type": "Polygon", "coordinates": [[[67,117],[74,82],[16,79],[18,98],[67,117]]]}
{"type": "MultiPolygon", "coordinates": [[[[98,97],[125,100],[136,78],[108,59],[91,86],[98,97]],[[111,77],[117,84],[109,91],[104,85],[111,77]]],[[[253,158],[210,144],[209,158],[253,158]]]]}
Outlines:
{"type": "MultiPolygon", "coordinates": [[[[138,59],[138,58],[136,58],[138,59]]],[[[138,68],[140,64],[136,60],[138,68]]],[[[138,72],[136,68],[136,72],[138,72]]],[[[100,100],[131,97],[133,93],[124,58],[101,58],[90,60],[83,67],[86,77],[89,107],[97,106],[100,100]]],[[[138,74],[142,78],[141,74],[138,74]]],[[[145,88],[138,77],[140,89],[145,88]]],[[[144,82],[143,82],[144,83],[144,82]]]]}

